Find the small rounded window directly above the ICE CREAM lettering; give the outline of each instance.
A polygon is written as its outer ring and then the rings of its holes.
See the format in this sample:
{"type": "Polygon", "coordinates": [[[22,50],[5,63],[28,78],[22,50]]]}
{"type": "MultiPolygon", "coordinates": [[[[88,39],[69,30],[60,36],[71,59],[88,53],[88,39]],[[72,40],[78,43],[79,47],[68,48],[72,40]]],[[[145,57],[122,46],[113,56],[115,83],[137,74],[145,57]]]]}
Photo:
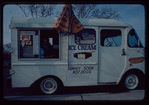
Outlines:
{"type": "Polygon", "coordinates": [[[75,35],[75,43],[78,45],[95,44],[96,31],[94,29],[83,29],[75,35]]]}

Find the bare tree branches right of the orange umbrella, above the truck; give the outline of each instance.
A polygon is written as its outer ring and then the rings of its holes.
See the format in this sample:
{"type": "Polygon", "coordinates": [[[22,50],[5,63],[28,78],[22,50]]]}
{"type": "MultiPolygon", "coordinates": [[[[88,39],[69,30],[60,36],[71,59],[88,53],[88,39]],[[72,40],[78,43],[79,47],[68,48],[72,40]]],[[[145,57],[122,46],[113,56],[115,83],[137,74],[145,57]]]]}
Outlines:
{"type": "Polygon", "coordinates": [[[73,5],[73,10],[76,12],[78,18],[105,18],[105,19],[120,19],[120,14],[115,9],[103,7],[97,8],[97,4],[77,4],[73,5]]]}

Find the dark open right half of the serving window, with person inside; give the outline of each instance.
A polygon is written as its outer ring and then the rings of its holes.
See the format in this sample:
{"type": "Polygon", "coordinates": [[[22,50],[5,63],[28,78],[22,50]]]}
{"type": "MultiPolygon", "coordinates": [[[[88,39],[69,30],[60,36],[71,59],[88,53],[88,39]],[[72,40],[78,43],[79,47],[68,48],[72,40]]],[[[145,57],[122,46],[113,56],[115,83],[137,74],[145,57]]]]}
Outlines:
{"type": "Polygon", "coordinates": [[[55,30],[40,30],[40,58],[59,58],[59,34],[55,30]]]}

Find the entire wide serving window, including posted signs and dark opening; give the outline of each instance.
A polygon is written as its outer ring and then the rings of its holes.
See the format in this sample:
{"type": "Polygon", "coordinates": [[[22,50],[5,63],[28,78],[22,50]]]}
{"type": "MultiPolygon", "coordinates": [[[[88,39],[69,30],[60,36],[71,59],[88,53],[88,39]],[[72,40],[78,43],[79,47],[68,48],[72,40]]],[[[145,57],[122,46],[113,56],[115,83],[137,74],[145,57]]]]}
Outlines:
{"type": "Polygon", "coordinates": [[[59,34],[55,30],[19,31],[19,58],[59,58],[59,34]]]}

